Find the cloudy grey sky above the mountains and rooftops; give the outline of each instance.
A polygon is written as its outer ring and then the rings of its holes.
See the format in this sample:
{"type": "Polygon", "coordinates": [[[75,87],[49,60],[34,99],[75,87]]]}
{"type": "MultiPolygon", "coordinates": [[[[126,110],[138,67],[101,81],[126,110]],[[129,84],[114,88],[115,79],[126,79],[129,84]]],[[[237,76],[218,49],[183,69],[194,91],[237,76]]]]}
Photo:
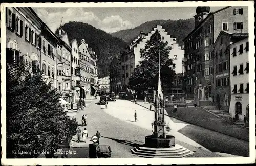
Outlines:
{"type": "MultiPolygon", "coordinates": [[[[211,12],[223,7],[211,7],[211,12]]],[[[131,29],[144,22],[164,19],[189,19],[196,15],[196,7],[122,7],[122,8],[35,8],[37,15],[55,32],[63,23],[80,21],[107,33],[131,29]]]]}

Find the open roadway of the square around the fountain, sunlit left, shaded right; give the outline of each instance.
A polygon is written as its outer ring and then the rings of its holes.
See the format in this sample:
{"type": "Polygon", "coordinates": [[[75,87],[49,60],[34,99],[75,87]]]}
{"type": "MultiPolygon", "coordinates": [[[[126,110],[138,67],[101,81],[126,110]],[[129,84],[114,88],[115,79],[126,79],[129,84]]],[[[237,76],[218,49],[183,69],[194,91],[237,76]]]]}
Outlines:
{"type": "MultiPolygon", "coordinates": [[[[98,101],[99,99],[94,100],[86,110],[78,112],[74,116],[77,118],[78,123],[81,124],[82,114],[88,115],[88,126],[84,127],[89,132],[89,138],[87,143],[76,143],[77,136],[75,135],[72,143],[77,148],[73,149],[77,153],[82,153],[79,157],[88,157],[88,146],[92,143],[89,139],[95,135],[96,130],[99,130],[102,136],[100,144],[111,146],[112,157],[137,157],[132,155],[130,149],[135,145],[144,144],[144,136],[152,134],[151,122],[154,118],[154,113],[127,100],[109,102],[107,109],[103,105],[98,105],[98,101]],[[134,110],[138,114],[136,123],[134,122],[134,110]]],[[[246,147],[248,145],[241,140],[231,139],[232,141],[230,141],[230,138],[228,140],[225,139],[226,135],[220,135],[220,133],[189,125],[168,116],[166,116],[166,122],[172,128],[168,134],[176,137],[176,143],[194,151],[194,154],[188,157],[231,157],[232,155],[229,154],[241,156],[246,156],[247,154],[246,147]],[[221,138],[221,140],[217,138],[221,138]]],[[[82,126],[79,127],[84,128],[82,126]]]]}

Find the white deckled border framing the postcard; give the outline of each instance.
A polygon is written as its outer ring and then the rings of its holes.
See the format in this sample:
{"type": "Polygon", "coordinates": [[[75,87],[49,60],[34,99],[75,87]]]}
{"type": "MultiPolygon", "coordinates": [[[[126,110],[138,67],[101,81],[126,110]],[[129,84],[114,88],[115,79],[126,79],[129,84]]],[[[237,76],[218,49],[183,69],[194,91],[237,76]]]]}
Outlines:
{"type": "MultiPolygon", "coordinates": [[[[253,8],[253,1],[218,1],[218,6],[248,6],[248,24],[249,24],[249,47],[250,49],[250,56],[249,56],[249,61],[254,62],[254,45],[253,45],[253,39],[254,39],[254,8],[253,8]]],[[[72,7],[98,7],[98,8],[105,8],[105,7],[197,7],[197,6],[216,6],[216,2],[133,2],[133,3],[122,3],[122,2],[116,2],[116,3],[2,3],[1,4],[1,13],[5,13],[5,8],[4,7],[67,7],[70,8],[72,7]]],[[[3,14],[4,17],[1,19],[1,46],[2,46],[2,55],[5,55],[5,47],[6,47],[6,28],[5,28],[5,14],[3,14]],[[3,28],[2,28],[3,27],[3,28]]],[[[2,65],[2,70],[1,70],[1,80],[2,80],[2,88],[1,88],[1,93],[2,93],[2,98],[1,98],[1,106],[2,110],[6,109],[6,89],[5,84],[6,84],[6,68],[3,67],[5,66],[5,57],[2,56],[1,58],[1,65],[2,65]]],[[[249,73],[249,88],[250,88],[250,93],[249,93],[249,104],[251,105],[252,109],[255,104],[255,96],[254,96],[254,91],[255,91],[255,73],[254,65],[250,65],[250,73],[249,73]]],[[[2,111],[2,116],[1,116],[1,123],[6,124],[6,112],[2,111]]],[[[90,158],[70,158],[70,159],[6,159],[5,152],[6,152],[6,128],[3,127],[1,130],[2,134],[2,164],[4,165],[34,165],[34,164],[40,164],[40,165],[83,165],[83,164],[90,164],[90,165],[109,165],[109,164],[216,164],[216,163],[229,163],[229,164],[242,164],[242,163],[254,163],[255,162],[255,116],[250,117],[250,157],[237,157],[237,158],[162,158],[162,159],[157,159],[157,158],[109,158],[109,159],[90,159],[90,158]]]]}

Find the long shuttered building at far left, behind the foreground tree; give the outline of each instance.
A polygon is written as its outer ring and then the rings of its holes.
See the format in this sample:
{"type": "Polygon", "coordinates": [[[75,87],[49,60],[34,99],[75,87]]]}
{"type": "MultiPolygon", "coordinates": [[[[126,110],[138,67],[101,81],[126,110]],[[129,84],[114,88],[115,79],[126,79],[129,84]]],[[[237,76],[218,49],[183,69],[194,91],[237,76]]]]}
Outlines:
{"type": "Polygon", "coordinates": [[[32,8],[6,8],[7,58],[41,70],[46,83],[56,88],[56,48],[60,40],[32,8]]]}

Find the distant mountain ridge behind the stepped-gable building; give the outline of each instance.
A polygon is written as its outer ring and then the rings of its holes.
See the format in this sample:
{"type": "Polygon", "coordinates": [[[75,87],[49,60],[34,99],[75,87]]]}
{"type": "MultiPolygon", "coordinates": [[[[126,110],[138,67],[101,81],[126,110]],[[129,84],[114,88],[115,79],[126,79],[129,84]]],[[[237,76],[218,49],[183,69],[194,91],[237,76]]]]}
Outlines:
{"type": "Polygon", "coordinates": [[[195,28],[193,18],[186,20],[154,20],[142,23],[133,29],[111,33],[111,35],[123,39],[123,41],[127,43],[131,43],[140,34],[140,31],[148,33],[154,29],[156,25],[162,25],[169,35],[176,37],[177,43],[180,46],[183,45],[182,40],[195,28]]]}

